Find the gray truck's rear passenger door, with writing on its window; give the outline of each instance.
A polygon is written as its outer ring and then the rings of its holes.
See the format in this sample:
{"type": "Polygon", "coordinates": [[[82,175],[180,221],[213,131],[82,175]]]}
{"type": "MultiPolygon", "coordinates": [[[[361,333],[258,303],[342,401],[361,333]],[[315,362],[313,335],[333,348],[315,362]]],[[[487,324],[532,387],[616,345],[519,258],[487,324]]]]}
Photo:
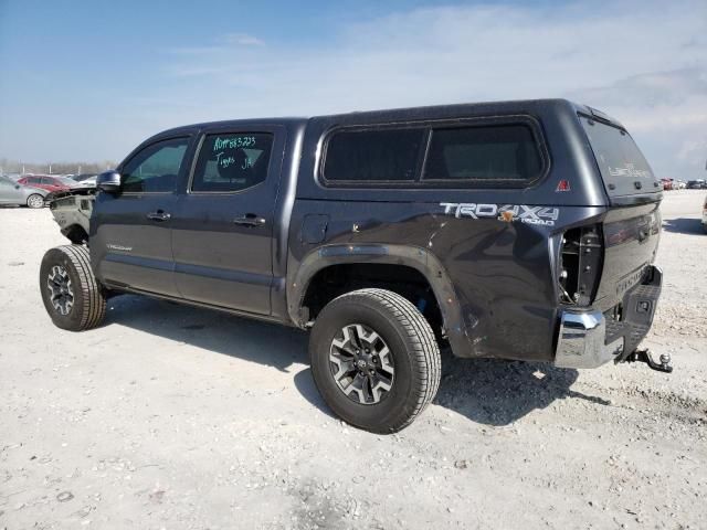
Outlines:
{"type": "Polygon", "coordinates": [[[173,222],[176,282],[190,300],[268,315],[284,128],[202,134],[173,222]]]}

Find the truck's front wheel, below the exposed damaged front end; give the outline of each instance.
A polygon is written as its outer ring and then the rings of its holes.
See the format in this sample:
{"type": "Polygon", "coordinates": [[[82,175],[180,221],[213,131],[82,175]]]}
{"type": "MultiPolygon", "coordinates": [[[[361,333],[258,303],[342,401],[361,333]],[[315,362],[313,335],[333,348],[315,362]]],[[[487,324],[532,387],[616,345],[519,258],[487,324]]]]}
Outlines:
{"type": "Polygon", "coordinates": [[[88,248],[65,245],[44,254],[40,289],[55,326],[82,331],[98,326],[106,315],[103,289],[91,269],[88,248]]]}

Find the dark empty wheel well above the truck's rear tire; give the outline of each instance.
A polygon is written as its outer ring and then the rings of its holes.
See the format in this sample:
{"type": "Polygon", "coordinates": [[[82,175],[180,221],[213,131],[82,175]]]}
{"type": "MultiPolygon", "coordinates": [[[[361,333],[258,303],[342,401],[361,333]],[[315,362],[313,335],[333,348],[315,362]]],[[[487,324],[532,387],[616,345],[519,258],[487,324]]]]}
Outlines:
{"type": "Polygon", "coordinates": [[[303,299],[308,320],[334,298],[363,288],[392,290],[410,300],[425,317],[437,338],[443,337],[443,318],[432,286],[420,271],[405,265],[380,263],[351,263],[330,265],[317,272],[303,299]]]}

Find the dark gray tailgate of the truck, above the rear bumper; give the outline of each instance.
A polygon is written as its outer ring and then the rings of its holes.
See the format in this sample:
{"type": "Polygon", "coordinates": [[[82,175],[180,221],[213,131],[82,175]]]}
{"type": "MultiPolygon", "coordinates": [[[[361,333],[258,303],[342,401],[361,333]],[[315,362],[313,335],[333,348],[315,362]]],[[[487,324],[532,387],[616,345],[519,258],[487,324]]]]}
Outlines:
{"type": "Polygon", "coordinates": [[[603,222],[604,262],[594,307],[605,311],[643,283],[661,237],[659,202],[610,210],[603,222]]]}

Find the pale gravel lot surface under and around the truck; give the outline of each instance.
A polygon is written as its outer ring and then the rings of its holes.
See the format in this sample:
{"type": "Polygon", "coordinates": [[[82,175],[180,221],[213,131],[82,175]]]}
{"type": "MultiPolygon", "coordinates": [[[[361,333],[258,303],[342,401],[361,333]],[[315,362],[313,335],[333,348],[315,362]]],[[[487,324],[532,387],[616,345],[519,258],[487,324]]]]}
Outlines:
{"type": "Polygon", "coordinates": [[[705,191],[668,192],[640,365],[445,354],[398,435],[331,416],[307,336],[136,296],[55,328],[49,210],[0,210],[0,528],[707,528],[705,191]]]}

